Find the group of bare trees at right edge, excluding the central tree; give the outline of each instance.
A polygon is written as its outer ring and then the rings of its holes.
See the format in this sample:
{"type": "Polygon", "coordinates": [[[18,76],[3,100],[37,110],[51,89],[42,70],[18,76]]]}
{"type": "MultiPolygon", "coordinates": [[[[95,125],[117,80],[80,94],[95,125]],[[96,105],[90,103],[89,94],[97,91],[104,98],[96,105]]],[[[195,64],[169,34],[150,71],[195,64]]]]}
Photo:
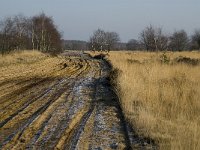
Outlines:
{"type": "Polygon", "coordinates": [[[167,35],[163,33],[162,28],[156,28],[150,25],[140,33],[138,43],[147,51],[199,50],[200,30],[195,30],[191,37],[184,30],[174,31],[171,35],[167,35]]]}

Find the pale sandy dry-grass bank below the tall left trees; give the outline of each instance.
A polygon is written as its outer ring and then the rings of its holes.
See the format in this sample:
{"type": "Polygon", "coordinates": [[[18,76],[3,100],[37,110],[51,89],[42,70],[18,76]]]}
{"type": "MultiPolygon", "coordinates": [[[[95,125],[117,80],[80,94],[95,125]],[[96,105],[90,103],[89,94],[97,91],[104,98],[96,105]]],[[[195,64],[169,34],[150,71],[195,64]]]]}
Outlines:
{"type": "MultiPolygon", "coordinates": [[[[18,51],[0,56],[0,82],[25,78],[61,77],[63,63],[69,63],[64,57],[52,57],[39,51],[18,51]]],[[[73,71],[73,64],[69,65],[73,71]]],[[[68,67],[70,74],[70,67],[68,67]]]]}

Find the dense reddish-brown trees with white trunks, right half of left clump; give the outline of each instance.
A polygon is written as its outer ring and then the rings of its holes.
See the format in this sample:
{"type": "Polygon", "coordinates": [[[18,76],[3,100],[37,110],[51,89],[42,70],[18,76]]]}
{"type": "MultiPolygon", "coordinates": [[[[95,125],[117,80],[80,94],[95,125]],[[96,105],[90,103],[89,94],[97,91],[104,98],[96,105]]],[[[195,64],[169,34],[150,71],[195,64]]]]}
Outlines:
{"type": "Polygon", "coordinates": [[[62,50],[61,34],[53,19],[44,13],[31,18],[32,48],[43,52],[58,53],[62,50]]]}

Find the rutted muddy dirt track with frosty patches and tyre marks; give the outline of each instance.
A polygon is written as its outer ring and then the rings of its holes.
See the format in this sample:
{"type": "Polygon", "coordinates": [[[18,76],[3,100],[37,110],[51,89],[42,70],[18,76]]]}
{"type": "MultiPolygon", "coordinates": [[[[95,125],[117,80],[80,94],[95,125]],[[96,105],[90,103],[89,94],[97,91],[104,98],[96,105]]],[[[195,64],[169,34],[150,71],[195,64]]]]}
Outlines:
{"type": "Polygon", "coordinates": [[[125,121],[110,64],[88,55],[66,60],[51,77],[0,82],[0,149],[155,149],[125,121]]]}

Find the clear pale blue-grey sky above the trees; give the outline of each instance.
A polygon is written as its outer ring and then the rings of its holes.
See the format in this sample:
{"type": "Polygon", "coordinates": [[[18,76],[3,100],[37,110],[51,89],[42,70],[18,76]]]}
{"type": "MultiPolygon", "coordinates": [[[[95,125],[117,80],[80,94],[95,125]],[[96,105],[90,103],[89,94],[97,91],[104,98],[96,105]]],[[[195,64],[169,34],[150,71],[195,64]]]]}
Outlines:
{"type": "Polygon", "coordinates": [[[149,24],[167,33],[200,29],[200,0],[0,0],[0,19],[41,12],[53,17],[65,39],[88,40],[102,28],[126,42],[149,24]]]}

